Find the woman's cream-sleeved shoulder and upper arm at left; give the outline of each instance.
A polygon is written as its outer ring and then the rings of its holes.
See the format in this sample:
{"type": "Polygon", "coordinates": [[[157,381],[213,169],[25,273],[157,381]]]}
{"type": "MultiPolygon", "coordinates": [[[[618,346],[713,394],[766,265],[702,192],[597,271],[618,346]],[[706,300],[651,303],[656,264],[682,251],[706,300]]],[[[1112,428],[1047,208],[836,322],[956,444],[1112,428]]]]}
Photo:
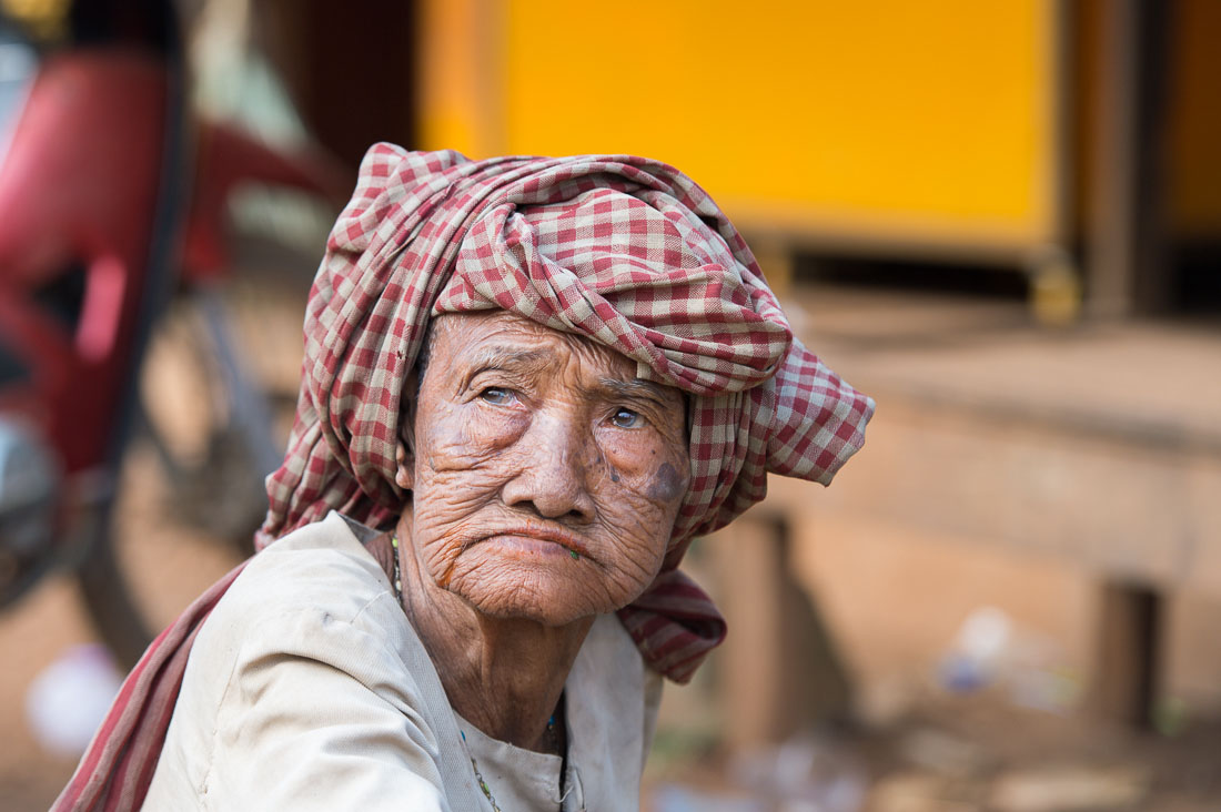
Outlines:
{"type": "Polygon", "coordinates": [[[342,517],[275,542],[195,639],[156,808],[444,808],[447,706],[420,648],[342,517]]]}

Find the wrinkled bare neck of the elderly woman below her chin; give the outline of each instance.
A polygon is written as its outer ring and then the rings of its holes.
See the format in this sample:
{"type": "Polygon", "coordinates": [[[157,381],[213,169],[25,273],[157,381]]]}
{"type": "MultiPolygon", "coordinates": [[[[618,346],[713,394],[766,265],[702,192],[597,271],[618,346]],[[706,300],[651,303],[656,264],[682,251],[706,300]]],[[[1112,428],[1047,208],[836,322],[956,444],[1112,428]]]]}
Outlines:
{"type": "Polygon", "coordinates": [[[547,626],[491,618],[424,571],[399,524],[403,603],[454,711],[485,734],[547,752],[547,722],[593,618],[547,626]]]}

